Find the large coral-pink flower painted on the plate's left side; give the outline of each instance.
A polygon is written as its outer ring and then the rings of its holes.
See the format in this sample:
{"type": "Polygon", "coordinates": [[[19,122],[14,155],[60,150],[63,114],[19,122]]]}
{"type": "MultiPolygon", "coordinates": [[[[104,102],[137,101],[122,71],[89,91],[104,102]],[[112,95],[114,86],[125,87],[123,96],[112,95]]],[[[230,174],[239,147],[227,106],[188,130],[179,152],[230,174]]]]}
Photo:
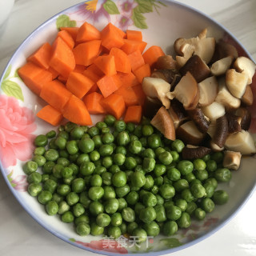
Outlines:
{"type": "Polygon", "coordinates": [[[31,134],[36,130],[34,114],[26,107],[18,105],[18,100],[0,95],[0,160],[7,168],[15,166],[17,159],[27,161],[31,158],[31,134]]]}

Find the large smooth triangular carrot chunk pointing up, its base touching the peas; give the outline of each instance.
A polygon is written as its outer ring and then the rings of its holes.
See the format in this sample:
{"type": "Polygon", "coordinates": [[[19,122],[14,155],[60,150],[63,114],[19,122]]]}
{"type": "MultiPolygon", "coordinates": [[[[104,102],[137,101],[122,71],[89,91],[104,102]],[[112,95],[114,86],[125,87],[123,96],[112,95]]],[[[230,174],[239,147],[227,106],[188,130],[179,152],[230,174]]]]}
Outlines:
{"type": "Polygon", "coordinates": [[[82,100],[72,95],[62,111],[63,117],[81,126],[91,126],[93,123],[86,105],[82,100]]]}

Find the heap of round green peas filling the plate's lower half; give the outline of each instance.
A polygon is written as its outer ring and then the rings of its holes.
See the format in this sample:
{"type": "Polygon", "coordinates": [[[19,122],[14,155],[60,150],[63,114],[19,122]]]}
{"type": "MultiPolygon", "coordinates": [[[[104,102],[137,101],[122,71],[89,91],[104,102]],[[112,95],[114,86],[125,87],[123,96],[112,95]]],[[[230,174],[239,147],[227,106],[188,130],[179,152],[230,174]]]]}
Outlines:
{"type": "Polygon", "coordinates": [[[231,178],[222,152],[182,159],[184,143],[164,138],[147,119],[138,126],[112,115],[92,127],[67,122],[34,145],[23,166],[29,194],[82,236],[171,236],[229,198],[217,190],[231,178]]]}

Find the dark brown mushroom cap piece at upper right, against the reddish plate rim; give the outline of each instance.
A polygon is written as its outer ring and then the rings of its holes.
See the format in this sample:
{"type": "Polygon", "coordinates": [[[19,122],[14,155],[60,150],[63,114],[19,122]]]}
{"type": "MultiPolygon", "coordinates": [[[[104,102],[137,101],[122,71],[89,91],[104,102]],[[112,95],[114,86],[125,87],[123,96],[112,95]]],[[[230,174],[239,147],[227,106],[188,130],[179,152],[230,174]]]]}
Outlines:
{"type": "Polygon", "coordinates": [[[215,46],[214,57],[211,61],[216,62],[219,59],[225,58],[227,56],[231,56],[233,59],[238,58],[238,50],[230,43],[224,41],[217,42],[215,46]]]}

